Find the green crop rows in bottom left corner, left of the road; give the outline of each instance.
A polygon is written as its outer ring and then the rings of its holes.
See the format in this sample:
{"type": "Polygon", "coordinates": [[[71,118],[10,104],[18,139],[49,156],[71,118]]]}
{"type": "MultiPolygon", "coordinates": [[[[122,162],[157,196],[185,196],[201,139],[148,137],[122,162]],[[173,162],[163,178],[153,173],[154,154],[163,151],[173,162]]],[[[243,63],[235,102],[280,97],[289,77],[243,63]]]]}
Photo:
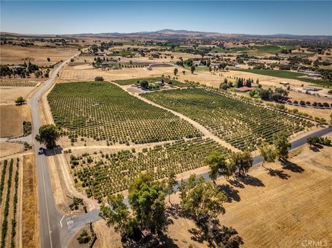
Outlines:
{"type": "Polygon", "coordinates": [[[0,163],[1,248],[16,247],[19,158],[0,163]]]}

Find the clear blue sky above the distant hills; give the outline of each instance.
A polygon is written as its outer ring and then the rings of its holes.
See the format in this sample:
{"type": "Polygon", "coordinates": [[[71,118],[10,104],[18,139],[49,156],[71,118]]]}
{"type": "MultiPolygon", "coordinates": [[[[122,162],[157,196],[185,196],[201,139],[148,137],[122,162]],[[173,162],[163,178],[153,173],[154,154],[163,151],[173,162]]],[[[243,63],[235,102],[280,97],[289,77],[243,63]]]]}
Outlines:
{"type": "Polygon", "coordinates": [[[332,1],[2,1],[1,31],[332,35],[332,1]]]}

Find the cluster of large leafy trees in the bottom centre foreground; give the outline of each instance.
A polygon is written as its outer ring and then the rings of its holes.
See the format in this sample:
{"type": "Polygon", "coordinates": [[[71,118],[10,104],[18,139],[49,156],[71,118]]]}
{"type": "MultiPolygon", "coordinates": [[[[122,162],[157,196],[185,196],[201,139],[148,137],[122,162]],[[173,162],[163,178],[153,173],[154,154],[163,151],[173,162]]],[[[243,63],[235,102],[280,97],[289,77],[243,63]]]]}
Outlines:
{"type": "MultiPolygon", "coordinates": [[[[154,182],[151,174],[141,173],[129,187],[131,211],[122,194],[109,195],[109,205],[102,204],[100,217],[108,227],[120,233],[122,242],[129,243],[129,246],[142,245],[150,238],[158,237],[167,227],[165,195],[173,193],[177,185],[174,173],[162,182],[154,182]]],[[[238,247],[243,242],[234,229],[219,227],[216,217],[225,213],[223,202],[227,198],[216,184],[191,175],[187,181],[181,181],[178,188],[181,213],[194,220],[201,229],[202,238],[212,247],[220,247],[221,244],[238,247]]]]}

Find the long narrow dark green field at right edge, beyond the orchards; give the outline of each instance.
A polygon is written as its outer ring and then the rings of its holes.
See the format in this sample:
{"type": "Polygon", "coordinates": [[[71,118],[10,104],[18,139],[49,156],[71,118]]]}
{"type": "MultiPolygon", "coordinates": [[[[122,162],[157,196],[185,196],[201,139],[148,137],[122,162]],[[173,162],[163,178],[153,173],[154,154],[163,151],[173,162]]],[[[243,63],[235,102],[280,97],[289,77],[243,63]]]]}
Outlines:
{"type": "Polygon", "coordinates": [[[324,80],[316,80],[316,79],[310,79],[310,78],[304,78],[301,76],[304,76],[306,74],[304,73],[295,73],[293,71],[289,70],[261,70],[261,69],[234,69],[239,71],[244,71],[246,73],[255,73],[259,75],[266,75],[271,77],[281,77],[281,78],[287,78],[287,79],[297,79],[302,82],[308,82],[312,84],[319,84],[320,86],[332,86],[332,82],[327,82],[324,80]]]}

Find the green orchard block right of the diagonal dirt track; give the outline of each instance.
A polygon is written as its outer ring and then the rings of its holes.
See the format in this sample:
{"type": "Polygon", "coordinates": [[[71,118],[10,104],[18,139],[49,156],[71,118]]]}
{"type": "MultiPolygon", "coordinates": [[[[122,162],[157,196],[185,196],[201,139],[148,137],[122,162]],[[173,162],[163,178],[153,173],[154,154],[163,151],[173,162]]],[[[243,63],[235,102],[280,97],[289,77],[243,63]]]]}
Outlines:
{"type": "Polygon", "coordinates": [[[165,90],[143,95],[157,104],[187,115],[240,150],[254,151],[273,134],[288,135],[313,126],[300,117],[241,102],[202,88],[165,90]]]}

